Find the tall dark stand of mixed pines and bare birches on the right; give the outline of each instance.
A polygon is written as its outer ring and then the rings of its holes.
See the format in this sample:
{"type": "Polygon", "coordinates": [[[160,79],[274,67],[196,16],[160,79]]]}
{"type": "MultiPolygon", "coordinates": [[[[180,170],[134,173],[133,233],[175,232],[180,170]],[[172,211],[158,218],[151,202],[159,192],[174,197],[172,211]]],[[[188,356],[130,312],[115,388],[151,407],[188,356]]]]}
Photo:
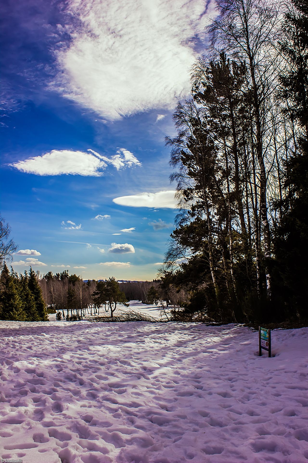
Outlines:
{"type": "Polygon", "coordinates": [[[181,212],[162,280],[218,322],[308,318],[308,1],[281,7],[217,0],[166,139],[181,212]]]}

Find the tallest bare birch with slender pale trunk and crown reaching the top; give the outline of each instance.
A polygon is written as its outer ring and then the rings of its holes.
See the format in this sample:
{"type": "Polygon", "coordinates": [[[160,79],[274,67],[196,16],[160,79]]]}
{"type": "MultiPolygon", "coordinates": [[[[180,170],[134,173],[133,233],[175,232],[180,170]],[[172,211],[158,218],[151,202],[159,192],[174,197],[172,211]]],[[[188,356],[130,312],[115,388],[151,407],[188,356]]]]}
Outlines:
{"type": "Polygon", "coordinates": [[[254,107],[255,154],[260,175],[260,215],[263,224],[264,254],[266,259],[267,296],[272,297],[271,230],[267,206],[267,177],[265,162],[265,124],[271,107],[271,91],[276,73],[278,56],[273,46],[276,41],[279,10],[275,3],[264,0],[217,0],[218,19],[209,26],[211,44],[215,49],[226,50],[247,63],[250,74],[251,100],[254,107]]]}

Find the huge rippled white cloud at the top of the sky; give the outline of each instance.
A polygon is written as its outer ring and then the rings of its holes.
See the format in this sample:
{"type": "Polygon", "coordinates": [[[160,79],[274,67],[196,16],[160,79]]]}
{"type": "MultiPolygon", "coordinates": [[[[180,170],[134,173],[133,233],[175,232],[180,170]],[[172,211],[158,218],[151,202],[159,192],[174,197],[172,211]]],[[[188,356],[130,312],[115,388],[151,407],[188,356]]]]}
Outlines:
{"type": "Polygon", "coordinates": [[[56,51],[54,89],[109,120],[172,108],[190,93],[205,39],[204,0],[70,0],[71,43],[56,51]],[[196,50],[196,51],[195,51],[196,50]]]}

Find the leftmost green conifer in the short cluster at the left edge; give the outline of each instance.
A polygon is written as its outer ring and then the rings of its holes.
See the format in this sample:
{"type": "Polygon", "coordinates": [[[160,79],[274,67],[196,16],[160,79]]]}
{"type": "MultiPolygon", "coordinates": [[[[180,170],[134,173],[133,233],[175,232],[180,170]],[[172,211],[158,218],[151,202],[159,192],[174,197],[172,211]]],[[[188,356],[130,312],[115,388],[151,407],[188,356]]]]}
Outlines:
{"type": "Polygon", "coordinates": [[[0,275],[0,319],[1,320],[25,320],[22,301],[19,296],[18,285],[10,275],[6,264],[0,275]]]}

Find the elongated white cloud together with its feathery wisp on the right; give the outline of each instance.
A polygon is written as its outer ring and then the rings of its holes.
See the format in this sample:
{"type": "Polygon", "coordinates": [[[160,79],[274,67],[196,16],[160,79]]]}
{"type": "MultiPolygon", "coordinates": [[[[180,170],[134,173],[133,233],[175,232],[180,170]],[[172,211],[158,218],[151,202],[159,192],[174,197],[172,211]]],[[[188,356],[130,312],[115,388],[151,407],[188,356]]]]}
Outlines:
{"type": "Polygon", "coordinates": [[[21,172],[35,175],[82,175],[100,177],[108,164],[117,170],[130,168],[134,165],[141,166],[138,159],[125,148],[111,156],[101,156],[96,151],[87,150],[52,150],[42,156],[34,156],[24,161],[8,164],[21,172]]]}

